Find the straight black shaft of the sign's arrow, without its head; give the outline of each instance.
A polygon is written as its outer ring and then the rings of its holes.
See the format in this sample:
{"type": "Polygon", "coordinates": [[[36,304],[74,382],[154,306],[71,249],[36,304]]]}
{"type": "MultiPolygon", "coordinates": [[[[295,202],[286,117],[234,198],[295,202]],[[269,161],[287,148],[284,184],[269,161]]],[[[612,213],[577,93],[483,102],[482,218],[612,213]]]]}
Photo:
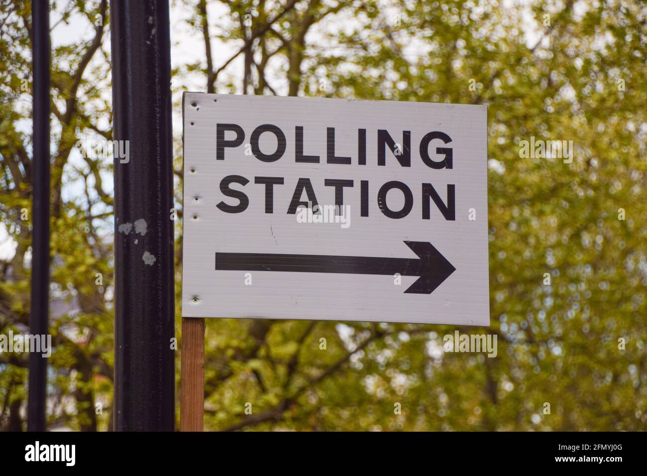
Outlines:
{"type": "Polygon", "coordinates": [[[285,271],[356,275],[420,276],[419,258],[374,256],[280,255],[275,253],[215,253],[215,269],[223,271],[285,271]]]}

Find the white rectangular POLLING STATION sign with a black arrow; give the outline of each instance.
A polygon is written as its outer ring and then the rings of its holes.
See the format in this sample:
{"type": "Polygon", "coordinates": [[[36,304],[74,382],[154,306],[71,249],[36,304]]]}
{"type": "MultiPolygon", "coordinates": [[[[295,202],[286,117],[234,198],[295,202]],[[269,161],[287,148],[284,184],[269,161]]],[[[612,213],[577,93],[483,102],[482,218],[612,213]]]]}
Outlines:
{"type": "Polygon", "coordinates": [[[487,108],[185,93],[182,316],[489,324],[487,108]]]}

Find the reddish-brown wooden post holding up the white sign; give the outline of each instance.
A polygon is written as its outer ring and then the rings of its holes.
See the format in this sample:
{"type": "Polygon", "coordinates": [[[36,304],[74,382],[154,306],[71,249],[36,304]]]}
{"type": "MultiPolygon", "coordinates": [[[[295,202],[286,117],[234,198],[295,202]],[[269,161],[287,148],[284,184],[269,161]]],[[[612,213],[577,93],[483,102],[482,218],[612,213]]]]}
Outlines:
{"type": "Polygon", "coordinates": [[[204,319],[182,317],[180,430],[203,431],[204,319]]]}

